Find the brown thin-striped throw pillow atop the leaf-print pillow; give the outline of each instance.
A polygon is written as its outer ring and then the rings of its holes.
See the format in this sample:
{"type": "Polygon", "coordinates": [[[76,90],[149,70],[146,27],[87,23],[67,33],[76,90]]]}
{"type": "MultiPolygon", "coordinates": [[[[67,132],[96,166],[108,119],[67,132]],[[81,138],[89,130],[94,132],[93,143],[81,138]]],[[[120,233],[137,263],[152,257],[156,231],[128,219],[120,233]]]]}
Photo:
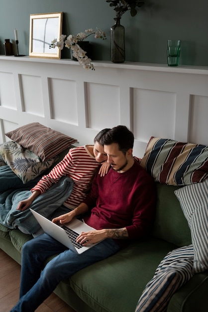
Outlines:
{"type": "Polygon", "coordinates": [[[39,123],[31,123],[17,128],[5,135],[23,148],[30,150],[42,161],[50,159],[77,142],[63,133],[52,130],[39,123]]]}

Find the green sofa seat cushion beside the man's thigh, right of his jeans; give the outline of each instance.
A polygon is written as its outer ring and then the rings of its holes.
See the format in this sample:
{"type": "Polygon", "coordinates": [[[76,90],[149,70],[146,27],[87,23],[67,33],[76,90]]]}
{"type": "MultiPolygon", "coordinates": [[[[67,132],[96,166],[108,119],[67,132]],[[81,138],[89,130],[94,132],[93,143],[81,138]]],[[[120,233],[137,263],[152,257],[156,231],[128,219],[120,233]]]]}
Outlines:
{"type": "Polygon", "coordinates": [[[133,312],[161,259],[174,248],[155,238],[137,240],[74,274],[70,286],[96,312],[133,312]]]}

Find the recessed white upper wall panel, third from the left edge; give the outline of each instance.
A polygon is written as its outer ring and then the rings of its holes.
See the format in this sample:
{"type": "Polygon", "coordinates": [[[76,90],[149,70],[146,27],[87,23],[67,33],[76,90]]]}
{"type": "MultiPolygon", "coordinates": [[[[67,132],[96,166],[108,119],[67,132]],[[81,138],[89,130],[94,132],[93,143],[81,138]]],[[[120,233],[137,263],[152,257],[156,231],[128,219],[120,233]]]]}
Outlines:
{"type": "Polygon", "coordinates": [[[49,78],[51,118],[78,125],[76,81],[49,78]]]}

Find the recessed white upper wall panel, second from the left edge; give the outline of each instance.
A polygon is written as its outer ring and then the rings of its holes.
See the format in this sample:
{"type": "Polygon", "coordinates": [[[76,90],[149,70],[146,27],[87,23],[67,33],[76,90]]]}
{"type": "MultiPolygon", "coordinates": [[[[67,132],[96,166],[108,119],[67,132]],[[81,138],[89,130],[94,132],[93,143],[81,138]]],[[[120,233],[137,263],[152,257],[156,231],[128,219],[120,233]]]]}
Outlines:
{"type": "Polygon", "coordinates": [[[22,111],[44,117],[41,77],[21,75],[19,82],[21,85],[22,111]]]}

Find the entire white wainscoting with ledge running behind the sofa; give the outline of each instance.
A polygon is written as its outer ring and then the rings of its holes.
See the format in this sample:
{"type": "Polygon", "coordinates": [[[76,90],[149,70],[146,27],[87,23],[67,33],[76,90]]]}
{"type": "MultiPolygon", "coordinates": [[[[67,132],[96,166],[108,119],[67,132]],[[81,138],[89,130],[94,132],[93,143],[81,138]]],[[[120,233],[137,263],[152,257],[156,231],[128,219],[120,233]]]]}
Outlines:
{"type": "Polygon", "coordinates": [[[208,67],[0,56],[0,144],[39,122],[92,144],[103,128],[127,126],[142,157],[151,136],[208,145],[208,67]]]}

